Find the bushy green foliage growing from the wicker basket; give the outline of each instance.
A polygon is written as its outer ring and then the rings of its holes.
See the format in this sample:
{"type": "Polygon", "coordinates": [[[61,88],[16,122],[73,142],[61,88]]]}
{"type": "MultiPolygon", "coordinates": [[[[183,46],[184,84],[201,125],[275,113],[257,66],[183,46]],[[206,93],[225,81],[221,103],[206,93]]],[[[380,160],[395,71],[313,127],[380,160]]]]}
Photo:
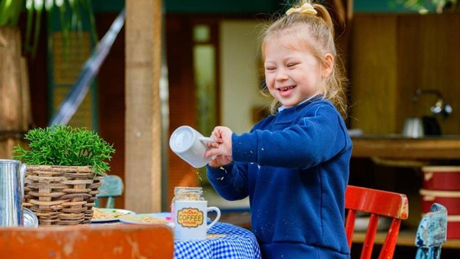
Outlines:
{"type": "Polygon", "coordinates": [[[24,137],[30,150],[17,146],[13,153],[29,165],[92,166],[96,174],[105,175],[110,167],[113,144],[109,145],[86,128],[55,125],[30,130],[24,137]]]}

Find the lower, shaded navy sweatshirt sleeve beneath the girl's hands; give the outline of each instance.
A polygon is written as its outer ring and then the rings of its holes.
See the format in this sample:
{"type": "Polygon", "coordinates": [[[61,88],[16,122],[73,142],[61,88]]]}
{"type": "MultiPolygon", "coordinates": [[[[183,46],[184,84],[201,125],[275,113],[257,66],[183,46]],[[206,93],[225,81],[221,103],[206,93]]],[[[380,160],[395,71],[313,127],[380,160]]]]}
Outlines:
{"type": "Polygon", "coordinates": [[[220,168],[207,166],[209,182],[226,200],[241,200],[249,194],[248,164],[232,162],[220,168]]]}

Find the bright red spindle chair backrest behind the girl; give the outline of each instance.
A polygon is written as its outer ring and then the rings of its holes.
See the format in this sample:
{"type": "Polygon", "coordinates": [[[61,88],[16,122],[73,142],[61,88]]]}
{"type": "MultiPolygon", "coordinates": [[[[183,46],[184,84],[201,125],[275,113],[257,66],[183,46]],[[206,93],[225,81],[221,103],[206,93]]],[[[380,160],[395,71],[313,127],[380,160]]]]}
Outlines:
{"type": "Polygon", "coordinates": [[[391,217],[393,220],[380,250],[379,258],[393,258],[401,219],[407,219],[409,214],[408,206],[407,197],[404,194],[349,185],[345,192],[345,208],[349,209],[345,223],[348,246],[351,248],[352,245],[356,211],[371,214],[361,251],[361,258],[365,259],[370,258],[372,254],[379,216],[391,217]]]}

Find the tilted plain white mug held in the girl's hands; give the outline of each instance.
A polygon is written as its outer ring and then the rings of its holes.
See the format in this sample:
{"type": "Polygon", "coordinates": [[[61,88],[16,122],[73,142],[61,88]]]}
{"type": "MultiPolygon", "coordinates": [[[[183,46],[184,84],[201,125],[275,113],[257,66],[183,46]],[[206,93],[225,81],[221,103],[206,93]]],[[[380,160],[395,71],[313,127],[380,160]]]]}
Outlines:
{"type": "Polygon", "coordinates": [[[212,138],[203,137],[191,126],[180,126],[170,137],[170,148],[185,162],[195,168],[200,168],[211,161],[211,158],[205,158],[208,150],[205,142],[215,141],[212,138]]]}

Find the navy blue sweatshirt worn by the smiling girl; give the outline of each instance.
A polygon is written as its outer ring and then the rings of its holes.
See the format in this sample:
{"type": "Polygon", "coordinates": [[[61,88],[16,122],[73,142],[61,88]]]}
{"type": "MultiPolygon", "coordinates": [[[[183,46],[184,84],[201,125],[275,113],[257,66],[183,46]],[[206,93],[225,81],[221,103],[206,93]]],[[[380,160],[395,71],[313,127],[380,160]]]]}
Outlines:
{"type": "Polygon", "coordinates": [[[328,100],[312,98],[232,135],[231,164],[208,165],[227,200],[249,195],[263,258],[349,258],[344,199],[352,142],[328,100]]]}

